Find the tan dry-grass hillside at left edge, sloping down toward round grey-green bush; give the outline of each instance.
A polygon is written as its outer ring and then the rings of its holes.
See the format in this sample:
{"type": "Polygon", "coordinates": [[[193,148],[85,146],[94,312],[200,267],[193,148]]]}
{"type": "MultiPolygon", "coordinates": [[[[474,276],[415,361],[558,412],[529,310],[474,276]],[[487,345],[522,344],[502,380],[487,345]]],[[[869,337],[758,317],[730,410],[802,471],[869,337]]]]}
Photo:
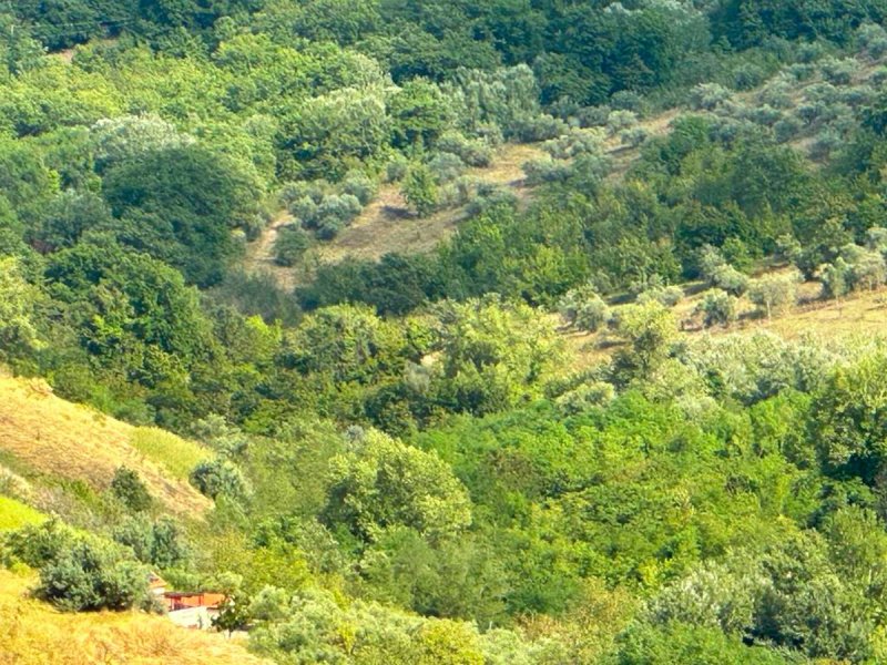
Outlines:
{"type": "MultiPolygon", "coordinates": [[[[206,510],[205,497],[133,446],[133,437],[142,436],[139,431],[55,397],[43,381],[0,376],[0,451],[40,473],[82,480],[96,489],[106,488],[114,471],[126,466],[172,512],[196,515],[206,510]]],[[[167,452],[179,440],[183,454],[192,454],[193,443],[169,437],[167,452]]]]}

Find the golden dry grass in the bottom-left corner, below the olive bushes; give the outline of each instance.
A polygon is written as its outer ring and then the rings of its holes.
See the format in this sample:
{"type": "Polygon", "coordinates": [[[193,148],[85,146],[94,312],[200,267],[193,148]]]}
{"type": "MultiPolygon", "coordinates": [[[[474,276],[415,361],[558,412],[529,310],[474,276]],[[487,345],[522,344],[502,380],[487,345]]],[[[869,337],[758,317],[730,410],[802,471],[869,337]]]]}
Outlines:
{"type": "Polygon", "coordinates": [[[0,570],[0,665],[258,665],[242,643],[135,612],[64,614],[27,597],[32,577],[0,570]]]}

